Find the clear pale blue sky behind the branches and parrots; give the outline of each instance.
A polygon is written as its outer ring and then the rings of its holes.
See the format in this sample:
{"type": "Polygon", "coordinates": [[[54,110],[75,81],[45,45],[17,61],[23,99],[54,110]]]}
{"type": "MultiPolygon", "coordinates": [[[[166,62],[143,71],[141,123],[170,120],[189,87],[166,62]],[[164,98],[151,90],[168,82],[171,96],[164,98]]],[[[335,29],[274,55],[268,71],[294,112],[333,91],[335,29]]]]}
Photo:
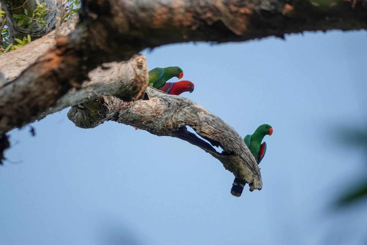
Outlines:
{"type": "MultiPolygon", "coordinates": [[[[366,202],[333,203],[366,172],[366,31],[143,51],[180,66],[183,93],[242,136],[266,136],[263,188],[230,195],[233,174],[203,150],[114,122],[80,129],[68,109],[13,130],[0,167],[0,244],[366,244],[366,202]],[[13,162],[13,163],[12,163],[13,162]],[[348,225],[346,225],[348,224],[348,225]]],[[[177,81],[176,78],[171,80],[177,81]]]]}

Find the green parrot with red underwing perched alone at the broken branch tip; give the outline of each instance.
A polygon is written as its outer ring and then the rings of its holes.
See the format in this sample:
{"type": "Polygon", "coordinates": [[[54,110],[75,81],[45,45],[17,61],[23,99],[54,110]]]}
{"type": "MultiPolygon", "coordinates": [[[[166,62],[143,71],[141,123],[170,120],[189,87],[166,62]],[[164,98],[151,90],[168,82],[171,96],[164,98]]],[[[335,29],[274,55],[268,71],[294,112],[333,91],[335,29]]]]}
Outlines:
{"type": "MultiPolygon", "coordinates": [[[[266,152],[266,143],[262,143],[261,141],[264,138],[266,134],[272,135],[273,128],[268,124],[263,124],[259,126],[253,134],[247,134],[246,137],[244,137],[243,141],[245,141],[245,144],[247,145],[248,149],[250,149],[251,154],[254,156],[255,161],[257,164],[259,164],[264,158],[265,152],[266,152]]],[[[246,185],[246,182],[244,180],[241,180],[239,178],[235,178],[232,184],[232,189],[230,190],[230,193],[234,195],[235,197],[240,197],[243,191],[243,187],[246,185]]]]}

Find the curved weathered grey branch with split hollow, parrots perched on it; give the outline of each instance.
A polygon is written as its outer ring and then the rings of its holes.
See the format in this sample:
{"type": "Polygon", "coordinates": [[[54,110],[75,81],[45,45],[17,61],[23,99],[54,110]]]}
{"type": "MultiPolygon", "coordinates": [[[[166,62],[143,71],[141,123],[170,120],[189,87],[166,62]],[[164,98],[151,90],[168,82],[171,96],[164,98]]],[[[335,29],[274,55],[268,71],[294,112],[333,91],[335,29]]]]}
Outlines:
{"type": "Polygon", "coordinates": [[[68,118],[82,128],[96,127],[106,120],[113,120],[139,127],[157,136],[180,138],[217,158],[235,176],[253,183],[251,191],[262,188],[255,159],[231,126],[187,98],[172,96],[151,87],[146,89],[146,93],[148,100],[134,102],[104,96],[72,107],[68,118]],[[212,145],[220,146],[224,152],[217,152],[206,141],[188,132],[186,126],[192,127],[212,145]]]}

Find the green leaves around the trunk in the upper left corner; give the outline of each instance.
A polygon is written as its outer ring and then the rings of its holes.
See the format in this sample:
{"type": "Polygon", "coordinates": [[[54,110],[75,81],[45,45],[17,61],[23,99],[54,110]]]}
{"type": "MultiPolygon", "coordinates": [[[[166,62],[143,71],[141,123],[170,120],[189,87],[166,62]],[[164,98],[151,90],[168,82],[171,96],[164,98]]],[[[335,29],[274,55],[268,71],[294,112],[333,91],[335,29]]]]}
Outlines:
{"type": "MultiPolygon", "coordinates": [[[[71,18],[73,15],[77,14],[80,8],[81,0],[71,0],[68,1],[65,10],[62,13],[62,19],[65,21],[71,18]]],[[[41,3],[40,0],[36,0],[37,7],[34,10],[26,9],[23,4],[23,13],[22,14],[13,14],[13,17],[18,19],[18,26],[26,25],[31,27],[34,22],[37,22],[42,25],[42,28],[46,26],[47,22],[42,19],[43,15],[45,15],[48,11],[56,11],[48,9],[46,3],[41,3]]],[[[6,14],[3,10],[0,10],[0,17],[6,17],[6,14]]],[[[16,50],[17,48],[23,47],[25,44],[31,41],[30,35],[27,37],[23,37],[23,39],[15,39],[18,44],[13,44],[9,42],[9,28],[7,25],[1,26],[1,36],[0,36],[0,54],[7,53],[8,51],[16,50]]]]}

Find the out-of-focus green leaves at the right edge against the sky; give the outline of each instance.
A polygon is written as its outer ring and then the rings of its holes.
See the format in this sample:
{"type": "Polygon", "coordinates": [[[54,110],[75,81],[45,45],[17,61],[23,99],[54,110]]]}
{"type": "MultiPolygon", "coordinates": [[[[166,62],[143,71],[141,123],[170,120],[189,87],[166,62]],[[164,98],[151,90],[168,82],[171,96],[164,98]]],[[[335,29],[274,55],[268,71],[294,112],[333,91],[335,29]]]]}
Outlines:
{"type": "MultiPolygon", "coordinates": [[[[341,129],[339,140],[344,146],[353,148],[362,148],[367,153],[367,131],[359,129],[341,129]]],[[[367,162],[366,162],[367,167],[367,162]]],[[[358,184],[357,187],[352,187],[354,190],[344,194],[337,202],[339,207],[349,206],[352,203],[367,198],[367,168],[362,175],[364,181],[358,184]]]]}

